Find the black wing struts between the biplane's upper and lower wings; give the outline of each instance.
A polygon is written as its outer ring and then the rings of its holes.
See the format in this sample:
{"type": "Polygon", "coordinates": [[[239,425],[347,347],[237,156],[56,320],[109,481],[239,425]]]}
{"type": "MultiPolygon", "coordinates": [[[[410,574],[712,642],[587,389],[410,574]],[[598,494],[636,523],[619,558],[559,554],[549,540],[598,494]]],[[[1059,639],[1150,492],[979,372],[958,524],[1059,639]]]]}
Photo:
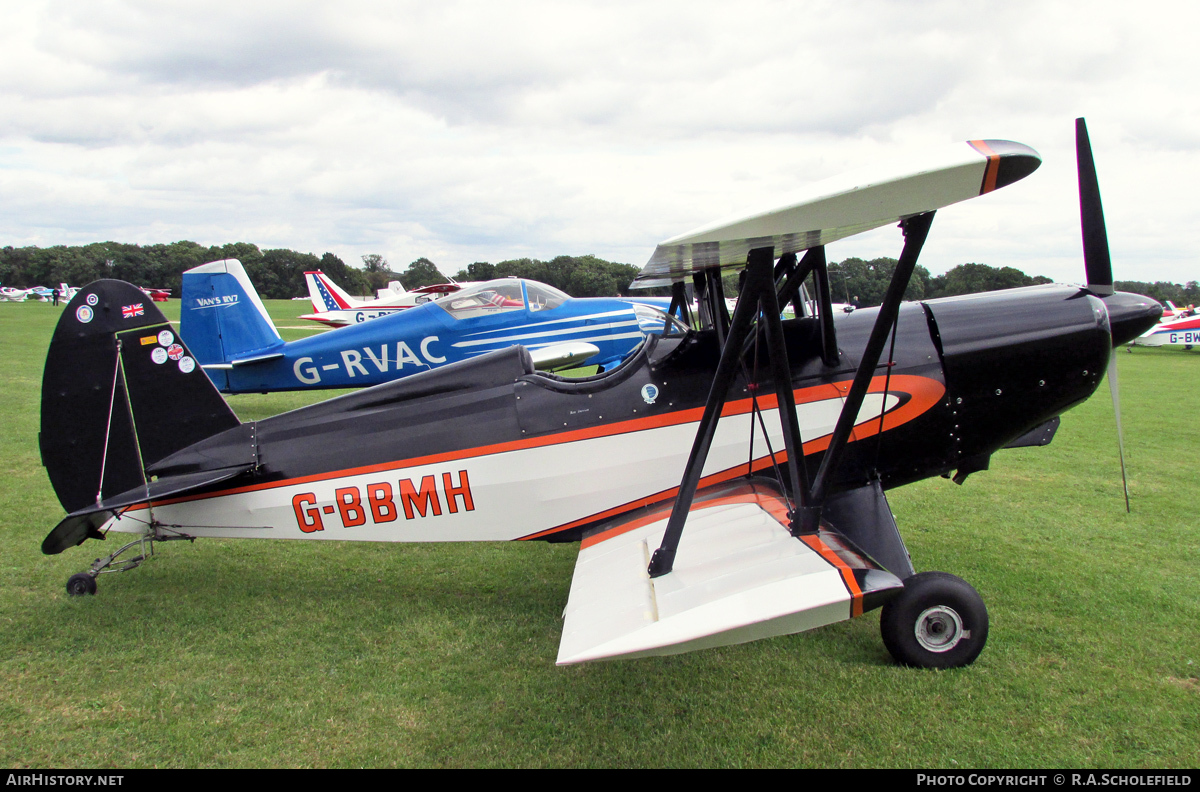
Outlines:
{"type": "MultiPolygon", "coordinates": [[[[700,485],[701,473],[708,451],[716,432],[716,422],[720,418],[721,408],[726,402],[730,385],[737,374],[743,348],[752,331],[755,319],[763,323],[767,335],[768,354],[770,356],[772,379],[775,383],[775,394],[779,398],[779,418],[784,430],[784,446],[787,452],[787,474],[791,497],[793,498],[793,510],[790,512],[790,528],[793,535],[815,534],[821,526],[821,510],[829,494],[829,486],[833,472],[838,469],[846,444],[850,440],[851,430],[863,406],[866,390],[875,376],[883,346],[895,324],[900,311],[900,302],[904,299],[905,289],[912,277],[917,265],[917,258],[929,235],[930,223],[934,221],[932,211],[907,217],[900,222],[904,230],[905,245],[896,263],[892,282],[888,284],[883,305],[880,306],[875,325],[871,328],[870,338],[863,352],[863,358],[854,372],[854,380],[846,394],[846,401],[838,416],[829,440],[829,448],[821,460],[816,478],[809,486],[808,474],[803,463],[804,446],[802,444],[800,430],[796,418],[796,397],[792,391],[791,365],[787,360],[787,348],[784,342],[784,326],[779,314],[780,298],[790,299],[794,289],[808,276],[809,271],[817,271],[817,292],[822,304],[822,323],[828,322],[829,329],[826,331],[822,324],[822,358],[830,355],[836,361],[836,341],[833,336],[833,316],[829,310],[829,284],[826,271],[824,250],[812,248],[804,259],[785,278],[785,283],[779,292],[775,290],[774,272],[774,247],[760,247],[750,251],[745,269],[745,283],[740,299],[733,311],[730,323],[728,335],[724,338],[721,348],[721,360],[713,378],[713,385],[708,391],[708,401],[704,404],[704,414],[696,430],[696,439],[688,457],[688,467],[684,468],[683,481],[679,485],[679,494],[676,497],[667,521],[666,532],[662,535],[662,544],[654,551],[650,558],[648,572],[650,577],[661,577],[673,569],[676,552],[679,547],[679,539],[683,535],[684,523],[696,496],[700,485]],[[822,277],[824,276],[824,277],[822,277]],[[824,281],[822,286],[822,281],[824,281]]],[[[781,268],[781,274],[788,269],[787,264],[781,268]]],[[[720,271],[716,268],[706,272],[708,276],[709,295],[714,290],[713,281],[720,282],[720,271]]],[[[697,276],[698,280],[698,276],[697,276]]],[[[716,307],[712,305],[710,307],[716,307]]],[[[828,362],[828,360],[827,360],[828,362]]]]}

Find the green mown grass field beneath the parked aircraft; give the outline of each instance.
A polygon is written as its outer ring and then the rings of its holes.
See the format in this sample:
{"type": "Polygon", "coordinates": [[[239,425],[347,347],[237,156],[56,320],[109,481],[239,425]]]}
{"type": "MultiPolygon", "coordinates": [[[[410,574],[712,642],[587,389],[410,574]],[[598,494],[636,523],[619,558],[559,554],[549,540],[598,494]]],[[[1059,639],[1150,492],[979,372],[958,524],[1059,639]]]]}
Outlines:
{"type": "MultiPolygon", "coordinates": [[[[307,308],[269,306],[281,325],[307,308]]],[[[62,517],[37,452],[59,311],[0,305],[0,764],[1200,764],[1200,353],[1120,354],[1132,515],[1104,386],[1050,446],[890,493],[917,568],[988,602],[968,668],[894,666],[877,613],[558,668],[574,545],[174,542],[68,599],[113,541],[40,551],[62,517]]],[[[251,419],[328,396],[230,402],[251,419]]]]}

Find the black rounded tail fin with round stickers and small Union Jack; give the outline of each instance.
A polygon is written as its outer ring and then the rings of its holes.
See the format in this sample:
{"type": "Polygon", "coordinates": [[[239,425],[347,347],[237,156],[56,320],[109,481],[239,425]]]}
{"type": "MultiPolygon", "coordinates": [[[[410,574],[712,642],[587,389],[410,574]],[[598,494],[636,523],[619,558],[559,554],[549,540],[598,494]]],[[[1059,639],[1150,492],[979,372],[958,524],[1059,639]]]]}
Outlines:
{"type": "Polygon", "coordinates": [[[122,281],[79,289],[46,356],[38,434],[68,512],[145,485],[155,462],[239,425],[140,289],[122,281]]]}

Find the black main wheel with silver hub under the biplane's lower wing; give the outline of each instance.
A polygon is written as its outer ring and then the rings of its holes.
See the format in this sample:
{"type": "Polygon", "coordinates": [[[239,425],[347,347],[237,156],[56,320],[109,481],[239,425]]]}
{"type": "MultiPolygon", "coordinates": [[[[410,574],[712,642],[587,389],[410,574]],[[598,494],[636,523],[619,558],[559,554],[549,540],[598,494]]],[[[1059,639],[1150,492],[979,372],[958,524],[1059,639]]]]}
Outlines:
{"type": "Polygon", "coordinates": [[[988,642],[988,608],[961,577],[922,572],[883,606],[880,631],[901,665],[959,668],[972,664],[988,642]]]}

